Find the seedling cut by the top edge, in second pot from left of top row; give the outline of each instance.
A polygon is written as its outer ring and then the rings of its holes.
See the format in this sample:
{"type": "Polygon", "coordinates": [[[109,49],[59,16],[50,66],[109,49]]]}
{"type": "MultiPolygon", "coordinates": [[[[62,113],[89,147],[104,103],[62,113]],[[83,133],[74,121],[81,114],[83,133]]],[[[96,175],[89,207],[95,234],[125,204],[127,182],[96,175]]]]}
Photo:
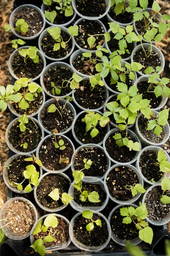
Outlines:
{"type": "Polygon", "coordinates": [[[73,15],[73,9],[71,5],[72,0],[43,0],[43,3],[47,5],[49,11],[45,11],[44,15],[47,20],[51,23],[54,22],[57,17],[57,11],[51,10],[50,6],[56,3],[56,10],[59,10],[60,13],[63,13],[65,17],[69,17],[73,15]]]}

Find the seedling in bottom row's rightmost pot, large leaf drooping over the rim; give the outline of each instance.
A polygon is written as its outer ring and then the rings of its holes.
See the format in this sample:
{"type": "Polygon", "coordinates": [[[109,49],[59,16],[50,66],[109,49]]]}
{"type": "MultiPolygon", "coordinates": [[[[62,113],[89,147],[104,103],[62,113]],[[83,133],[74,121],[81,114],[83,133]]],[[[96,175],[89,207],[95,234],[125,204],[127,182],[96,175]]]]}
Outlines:
{"type": "Polygon", "coordinates": [[[148,211],[146,205],[140,205],[139,207],[122,207],[120,208],[120,214],[123,216],[122,223],[130,224],[134,223],[136,229],[139,230],[139,238],[151,245],[153,240],[153,230],[148,226],[145,221],[148,211]]]}

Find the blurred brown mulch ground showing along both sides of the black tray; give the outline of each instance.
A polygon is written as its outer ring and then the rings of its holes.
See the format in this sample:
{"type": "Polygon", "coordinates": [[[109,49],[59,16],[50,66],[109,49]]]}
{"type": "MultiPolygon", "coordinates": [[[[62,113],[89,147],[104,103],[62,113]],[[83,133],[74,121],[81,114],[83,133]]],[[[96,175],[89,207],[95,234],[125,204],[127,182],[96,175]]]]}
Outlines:
{"type": "MultiPolygon", "coordinates": [[[[0,0],[0,25],[2,23],[9,22],[10,13],[13,10],[14,0],[0,0]]],[[[161,6],[161,13],[167,13],[170,15],[170,2],[157,0],[161,6]]],[[[8,59],[12,52],[11,40],[13,39],[13,33],[9,31],[4,32],[0,27],[0,86],[11,83],[11,75],[8,70],[8,59]]],[[[170,78],[170,31],[166,34],[163,40],[157,43],[157,46],[163,52],[166,60],[166,67],[162,76],[170,78]]],[[[170,107],[170,99],[168,100],[165,108],[170,107]]],[[[0,111],[0,207],[7,200],[7,186],[4,184],[2,177],[2,170],[4,163],[9,157],[9,149],[5,142],[5,130],[10,121],[10,113],[8,111],[0,111]]],[[[170,139],[163,148],[170,154],[170,139]]],[[[170,222],[169,222],[170,223],[170,222]]],[[[169,232],[170,232],[170,225],[169,232]]]]}

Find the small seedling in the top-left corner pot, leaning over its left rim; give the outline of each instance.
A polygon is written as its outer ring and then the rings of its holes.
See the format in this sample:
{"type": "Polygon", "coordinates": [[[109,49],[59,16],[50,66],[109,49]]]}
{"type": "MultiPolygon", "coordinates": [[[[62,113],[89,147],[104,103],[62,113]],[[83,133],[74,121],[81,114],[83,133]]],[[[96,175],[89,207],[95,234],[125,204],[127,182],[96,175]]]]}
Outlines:
{"type": "Polygon", "coordinates": [[[25,22],[24,19],[19,19],[15,23],[15,28],[11,27],[9,24],[2,24],[1,27],[3,27],[5,32],[8,32],[10,29],[13,29],[17,32],[20,32],[22,35],[25,35],[28,31],[28,23],[25,22]]]}

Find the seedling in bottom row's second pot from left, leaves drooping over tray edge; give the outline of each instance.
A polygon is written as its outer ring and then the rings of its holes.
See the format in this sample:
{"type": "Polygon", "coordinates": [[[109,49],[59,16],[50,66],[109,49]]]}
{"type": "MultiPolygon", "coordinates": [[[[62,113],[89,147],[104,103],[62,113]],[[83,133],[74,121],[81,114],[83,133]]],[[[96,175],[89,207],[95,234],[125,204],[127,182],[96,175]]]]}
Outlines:
{"type": "Polygon", "coordinates": [[[45,219],[44,222],[43,220],[40,220],[34,231],[33,231],[33,236],[39,234],[39,233],[44,233],[44,236],[42,238],[38,238],[35,240],[32,247],[35,252],[38,252],[41,256],[44,256],[46,254],[46,247],[44,243],[50,243],[54,241],[54,238],[52,237],[53,234],[53,229],[57,227],[58,225],[58,219],[55,216],[55,213],[51,213],[48,215],[45,219]]]}

